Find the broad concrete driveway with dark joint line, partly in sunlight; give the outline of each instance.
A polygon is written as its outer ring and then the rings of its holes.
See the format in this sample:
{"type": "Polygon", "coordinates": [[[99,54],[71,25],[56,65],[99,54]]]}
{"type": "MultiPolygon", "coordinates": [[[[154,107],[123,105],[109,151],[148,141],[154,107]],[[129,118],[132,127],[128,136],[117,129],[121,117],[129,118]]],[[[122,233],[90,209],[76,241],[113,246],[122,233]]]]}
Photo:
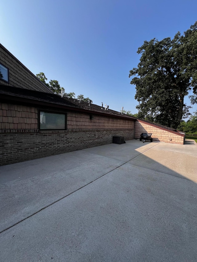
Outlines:
{"type": "Polygon", "coordinates": [[[0,261],[197,261],[197,144],[126,141],[0,167],[0,261]]]}

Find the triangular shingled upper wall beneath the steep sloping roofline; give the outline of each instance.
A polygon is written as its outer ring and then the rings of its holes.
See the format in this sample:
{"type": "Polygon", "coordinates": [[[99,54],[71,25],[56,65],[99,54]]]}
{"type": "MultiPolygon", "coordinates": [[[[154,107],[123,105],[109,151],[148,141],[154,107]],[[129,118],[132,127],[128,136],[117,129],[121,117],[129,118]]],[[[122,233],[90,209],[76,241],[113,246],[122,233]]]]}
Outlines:
{"type": "Polygon", "coordinates": [[[52,93],[38,78],[30,72],[16,57],[0,44],[0,63],[9,69],[9,83],[0,79],[0,84],[52,93]]]}

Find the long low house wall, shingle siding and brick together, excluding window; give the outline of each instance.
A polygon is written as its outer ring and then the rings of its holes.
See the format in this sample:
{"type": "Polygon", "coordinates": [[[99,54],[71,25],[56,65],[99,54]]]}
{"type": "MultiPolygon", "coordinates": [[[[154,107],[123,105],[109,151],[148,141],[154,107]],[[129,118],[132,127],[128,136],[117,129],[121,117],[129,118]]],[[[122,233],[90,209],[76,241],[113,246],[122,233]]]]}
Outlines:
{"type": "Polygon", "coordinates": [[[134,139],[134,121],[65,111],[67,130],[38,130],[38,108],[0,103],[0,165],[134,139]]]}

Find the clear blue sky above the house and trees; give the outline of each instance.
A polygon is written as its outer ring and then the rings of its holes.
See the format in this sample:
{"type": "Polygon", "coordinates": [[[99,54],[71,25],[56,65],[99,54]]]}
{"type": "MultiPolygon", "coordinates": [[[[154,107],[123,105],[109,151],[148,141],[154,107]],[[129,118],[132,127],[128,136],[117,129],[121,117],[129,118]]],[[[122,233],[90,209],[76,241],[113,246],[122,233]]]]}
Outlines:
{"type": "Polygon", "coordinates": [[[66,92],[136,113],[128,75],[139,63],[138,47],[183,33],[196,20],[196,0],[6,0],[0,42],[66,92]]]}

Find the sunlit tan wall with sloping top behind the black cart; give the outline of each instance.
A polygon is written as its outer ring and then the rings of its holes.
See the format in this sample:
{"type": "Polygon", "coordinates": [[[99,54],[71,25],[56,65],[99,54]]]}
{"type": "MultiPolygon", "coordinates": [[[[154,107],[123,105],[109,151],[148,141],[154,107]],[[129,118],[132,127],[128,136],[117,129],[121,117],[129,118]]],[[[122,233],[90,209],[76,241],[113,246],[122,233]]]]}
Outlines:
{"type": "Polygon", "coordinates": [[[165,131],[158,127],[153,127],[149,124],[145,124],[139,121],[135,121],[135,138],[140,138],[141,133],[152,133],[152,138],[154,141],[182,144],[184,142],[184,137],[178,134],[174,134],[170,131],[165,131]]]}

